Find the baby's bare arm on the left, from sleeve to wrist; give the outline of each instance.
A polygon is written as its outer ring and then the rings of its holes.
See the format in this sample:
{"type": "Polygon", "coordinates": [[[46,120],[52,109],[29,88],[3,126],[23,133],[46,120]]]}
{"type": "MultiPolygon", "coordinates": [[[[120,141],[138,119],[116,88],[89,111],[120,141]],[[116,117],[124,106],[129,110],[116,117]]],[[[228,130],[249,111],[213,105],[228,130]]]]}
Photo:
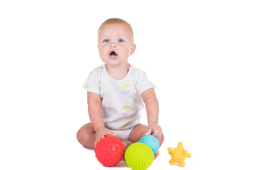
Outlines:
{"type": "Polygon", "coordinates": [[[99,127],[105,127],[102,118],[100,95],[87,91],[87,105],[90,121],[94,130],[96,131],[99,127]]]}

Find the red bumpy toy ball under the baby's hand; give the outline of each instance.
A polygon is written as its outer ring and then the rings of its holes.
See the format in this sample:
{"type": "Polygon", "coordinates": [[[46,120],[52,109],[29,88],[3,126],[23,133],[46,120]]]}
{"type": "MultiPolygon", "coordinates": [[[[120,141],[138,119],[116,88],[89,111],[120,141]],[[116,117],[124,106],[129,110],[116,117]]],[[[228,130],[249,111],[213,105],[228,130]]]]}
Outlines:
{"type": "Polygon", "coordinates": [[[122,161],[124,153],[124,144],[115,136],[105,136],[95,147],[96,158],[106,167],[113,167],[122,161]]]}

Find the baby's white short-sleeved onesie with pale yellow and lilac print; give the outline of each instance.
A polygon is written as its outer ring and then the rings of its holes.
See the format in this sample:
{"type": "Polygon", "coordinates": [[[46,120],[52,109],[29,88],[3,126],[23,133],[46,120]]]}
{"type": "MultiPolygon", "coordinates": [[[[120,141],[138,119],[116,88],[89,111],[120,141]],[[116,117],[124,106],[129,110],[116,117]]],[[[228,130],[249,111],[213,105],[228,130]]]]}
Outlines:
{"type": "Polygon", "coordinates": [[[145,71],[132,65],[125,78],[115,80],[104,64],[90,72],[82,88],[101,96],[106,129],[116,137],[128,139],[133,127],[140,123],[145,107],[140,95],[156,86],[149,81],[145,71]]]}

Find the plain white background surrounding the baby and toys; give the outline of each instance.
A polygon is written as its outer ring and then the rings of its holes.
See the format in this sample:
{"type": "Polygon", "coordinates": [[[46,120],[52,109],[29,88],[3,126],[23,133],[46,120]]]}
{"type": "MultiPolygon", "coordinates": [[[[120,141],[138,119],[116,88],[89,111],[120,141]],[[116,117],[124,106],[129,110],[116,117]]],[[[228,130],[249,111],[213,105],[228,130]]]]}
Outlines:
{"type": "Polygon", "coordinates": [[[0,169],[102,167],[76,140],[90,121],[81,86],[103,64],[98,27],[119,17],[134,28],[129,62],[157,85],[165,141],[150,169],[255,170],[255,8],[248,0],[0,1],[0,169]],[[192,154],[184,168],[168,163],[178,142],[192,154]]]}

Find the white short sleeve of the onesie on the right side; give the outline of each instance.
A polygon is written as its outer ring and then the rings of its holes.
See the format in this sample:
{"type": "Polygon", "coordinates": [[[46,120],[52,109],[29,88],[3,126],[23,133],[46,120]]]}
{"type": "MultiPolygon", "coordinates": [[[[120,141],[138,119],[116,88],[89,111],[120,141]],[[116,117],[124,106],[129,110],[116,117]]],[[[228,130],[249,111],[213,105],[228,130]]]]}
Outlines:
{"type": "Polygon", "coordinates": [[[156,88],[156,86],[151,81],[149,81],[145,71],[142,71],[142,73],[136,75],[135,81],[136,90],[140,95],[149,88],[156,88]]]}

